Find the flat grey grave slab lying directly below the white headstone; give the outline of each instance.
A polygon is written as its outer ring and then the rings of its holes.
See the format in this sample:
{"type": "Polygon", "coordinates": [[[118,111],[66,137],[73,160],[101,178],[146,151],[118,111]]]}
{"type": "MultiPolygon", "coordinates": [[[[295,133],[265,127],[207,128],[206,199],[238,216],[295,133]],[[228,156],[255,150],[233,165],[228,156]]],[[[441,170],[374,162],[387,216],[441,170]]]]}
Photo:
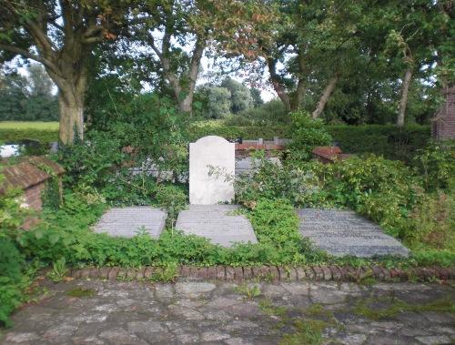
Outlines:
{"type": "Polygon", "coordinates": [[[257,243],[249,220],[231,215],[238,208],[238,205],[190,205],[178,214],[176,228],[224,247],[235,242],[257,243]]]}

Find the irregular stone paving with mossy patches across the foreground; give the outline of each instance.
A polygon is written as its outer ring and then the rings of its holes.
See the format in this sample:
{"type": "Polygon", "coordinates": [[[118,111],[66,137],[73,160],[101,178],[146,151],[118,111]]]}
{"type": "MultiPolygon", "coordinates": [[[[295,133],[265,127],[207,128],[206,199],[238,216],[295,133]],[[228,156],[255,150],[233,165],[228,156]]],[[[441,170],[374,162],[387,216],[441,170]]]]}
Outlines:
{"type": "Polygon", "coordinates": [[[323,322],[322,344],[450,344],[455,315],[398,310],[379,319],[359,312],[455,300],[449,285],[336,282],[177,283],[75,280],[41,281],[45,298],[25,306],[5,330],[4,345],[51,344],[304,344],[301,324],[323,322]],[[255,289],[256,297],[248,296],[255,289]],[[75,290],[90,291],[72,297],[75,290]],[[299,333],[300,332],[300,333],[299,333]],[[286,341],[293,340],[293,341],[286,341]]]}

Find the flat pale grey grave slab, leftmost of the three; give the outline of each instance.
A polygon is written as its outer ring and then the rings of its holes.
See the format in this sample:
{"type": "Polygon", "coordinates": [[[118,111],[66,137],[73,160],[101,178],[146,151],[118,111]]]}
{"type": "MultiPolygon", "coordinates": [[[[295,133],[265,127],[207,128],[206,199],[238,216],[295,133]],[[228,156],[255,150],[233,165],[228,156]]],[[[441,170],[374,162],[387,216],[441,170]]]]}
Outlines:
{"type": "Polygon", "coordinates": [[[94,230],[110,236],[132,238],[139,228],[144,227],[152,238],[159,238],[166,218],[165,211],[149,206],[110,208],[96,223],[94,230]]]}

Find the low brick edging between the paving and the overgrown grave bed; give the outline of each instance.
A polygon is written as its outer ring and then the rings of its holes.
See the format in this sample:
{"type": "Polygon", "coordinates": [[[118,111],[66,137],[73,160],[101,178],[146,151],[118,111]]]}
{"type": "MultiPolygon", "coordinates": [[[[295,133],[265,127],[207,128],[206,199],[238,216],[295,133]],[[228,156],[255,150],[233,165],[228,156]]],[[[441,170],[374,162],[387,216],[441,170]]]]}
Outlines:
{"type": "MultiPolygon", "coordinates": [[[[162,271],[159,267],[144,267],[141,269],[126,269],[119,267],[103,267],[88,269],[71,269],[69,277],[75,279],[108,279],[108,280],[143,280],[153,279],[155,274],[162,271]]],[[[434,279],[455,279],[455,269],[430,267],[412,269],[386,269],[381,266],[354,268],[351,266],[258,266],[258,267],[192,267],[180,266],[177,278],[243,281],[258,279],[266,281],[361,281],[374,278],[378,281],[432,281],[434,279]]]]}

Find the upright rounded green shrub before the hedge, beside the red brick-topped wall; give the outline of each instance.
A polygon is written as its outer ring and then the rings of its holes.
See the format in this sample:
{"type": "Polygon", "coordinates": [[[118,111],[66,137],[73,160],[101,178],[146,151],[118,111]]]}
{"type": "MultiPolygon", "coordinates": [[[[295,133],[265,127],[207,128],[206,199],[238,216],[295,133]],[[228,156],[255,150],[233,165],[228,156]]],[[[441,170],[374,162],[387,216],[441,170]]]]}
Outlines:
{"type": "Polygon", "coordinates": [[[288,148],[290,159],[308,161],[314,147],[329,146],[332,142],[324,121],[319,118],[311,118],[308,113],[297,111],[290,114],[292,123],[290,138],[292,142],[288,148]]]}

